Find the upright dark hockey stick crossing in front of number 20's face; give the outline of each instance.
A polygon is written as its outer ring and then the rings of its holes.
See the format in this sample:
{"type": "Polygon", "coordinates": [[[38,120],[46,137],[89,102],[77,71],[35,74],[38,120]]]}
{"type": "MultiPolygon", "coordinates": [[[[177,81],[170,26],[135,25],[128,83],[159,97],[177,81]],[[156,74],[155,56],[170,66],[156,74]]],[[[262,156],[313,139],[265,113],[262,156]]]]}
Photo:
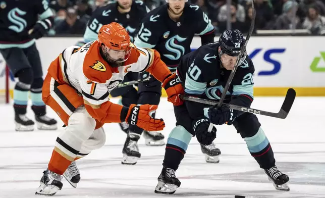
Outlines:
{"type": "MultiPolygon", "coordinates": [[[[231,74],[229,75],[229,78],[228,78],[227,83],[226,83],[226,87],[224,88],[224,91],[221,94],[220,101],[219,101],[218,104],[216,104],[216,107],[215,107],[216,109],[220,108],[221,107],[221,104],[223,104],[223,102],[225,100],[227,91],[228,91],[228,89],[230,87],[231,82],[233,81],[233,78],[235,76],[235,72],[236,72],[236,70],[237,70],[237,68],[239,66],[239,61],[242,58],[242,56],[244,55],[244,52],[246,50],[246,46],[247,46],[248,40],[249,40],[250,36],[253,33],[253,30],[254,30],[254,27],[255,27],[255,17],[256,17],[256,11],[255,11],[255,8],[254,8],[254,0],[252,0],[252,9],[253,9],[253,16],[252,16],[252,21],[251,21],[251,24],[250,24],[249,32],[248,32],[248,34],[246,36],[245,44],[242,46],[242,48],[241,48],[241,50],[239,52],[238,58],[236,60],[235,67],[233,68],[233,70],[231,71],[231,74]]],[[[213,124],[210,123],[209,128],[208,128],[207,131],[208,132],[211,132],[212,131],[212,128],[213,128],[213,124]]]]}

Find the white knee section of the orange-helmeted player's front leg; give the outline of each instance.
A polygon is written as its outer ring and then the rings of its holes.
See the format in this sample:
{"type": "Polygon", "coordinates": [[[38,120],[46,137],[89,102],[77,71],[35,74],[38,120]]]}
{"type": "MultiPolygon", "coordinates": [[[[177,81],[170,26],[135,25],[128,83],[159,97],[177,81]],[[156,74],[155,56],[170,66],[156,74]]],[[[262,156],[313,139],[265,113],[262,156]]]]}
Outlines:
{"type": "Polygon", "coordinates": [[[58,137],[74,150],[80,151],[82,144],[94,132],[95,126],[96,120],[88,114],[84,106],[80,106],[70,116],[66,130],[58,137]]]}

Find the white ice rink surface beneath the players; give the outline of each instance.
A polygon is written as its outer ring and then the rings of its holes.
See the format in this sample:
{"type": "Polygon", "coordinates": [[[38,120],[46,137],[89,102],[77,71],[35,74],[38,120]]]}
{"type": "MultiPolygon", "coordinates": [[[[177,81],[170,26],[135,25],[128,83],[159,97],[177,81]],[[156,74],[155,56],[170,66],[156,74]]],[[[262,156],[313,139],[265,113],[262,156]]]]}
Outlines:
{"type": "MultiPolygon", "coordinates": [[[[252,107],[278,112],[284,97],[256,97],[252,107]]],[[[112,102],[117,102],[113,98],[112,102]]],[[[47,109],[52,117],[57,115],[47,109]]],[[[57,197],[325,197],[325,98],[297,97],[282,120],[258,116],[270,141],[277,166],[290,177],[290,191],[277,191],[250,156],[245,141],[233,126],[218,126],[214,143],[222,152],[219,164],[208,164],[196,138],[176,175],[182,182],[173,195],[155,194],[165,146],[139,141],[141,159],[134,166],[121,164],[126,134],[118,124],[106,124],[106,143],[77,161],[81,181],[73,188],[63,179],[57,197]]],[[[33,118],[30,108],[30,118],[33,118]]],[[[175,126],[173,106],[162,98],[157,117],[164,118],[165,140],[175,126]]],[[[63,131],[16,132],[11,105],[0,105],[0,197],[35,197],[57,135],[63,131]]],[[[62,122],[60,121],[60,125],[62,122]]]]}

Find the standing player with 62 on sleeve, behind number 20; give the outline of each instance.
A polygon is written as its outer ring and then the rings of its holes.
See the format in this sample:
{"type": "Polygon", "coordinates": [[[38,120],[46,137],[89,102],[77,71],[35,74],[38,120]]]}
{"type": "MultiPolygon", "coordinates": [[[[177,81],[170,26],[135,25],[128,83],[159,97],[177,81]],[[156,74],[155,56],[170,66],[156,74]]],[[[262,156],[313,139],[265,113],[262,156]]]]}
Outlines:
{"type": "MultiPolygon", "coordinates": [[[[170,0],[168,4],[160,6],[142,20],[134,44],[139,47],[148,47],[157,50],[172,72],[183,55],[191,52],[190,44],[195,34],[200,35],[201,43],[212,42],[214,39],[214,27],[211,21],[202,10],[196,6],[186,3],[187,0],[170,0]]],[[[142,74],[143,79],[147,79],[147,74],[142,74]]],[[[154,77],[150,77],[138,85],[138,104],[154,104],[160,102],[161,88],[160,82],[154,77]]],[[[131,126],[130,131],[137,134],[142,133],[142,129],[131,126]]],[[[134,139],[136,142],[137,139],[134,139]]],[[[218,156],[221,154],[214,144],[201,145],[202,152],[206,155],[207,162],[219,162],[218,156]]],[[[134,155],[140,156],[137,151],[134,155]]]]}

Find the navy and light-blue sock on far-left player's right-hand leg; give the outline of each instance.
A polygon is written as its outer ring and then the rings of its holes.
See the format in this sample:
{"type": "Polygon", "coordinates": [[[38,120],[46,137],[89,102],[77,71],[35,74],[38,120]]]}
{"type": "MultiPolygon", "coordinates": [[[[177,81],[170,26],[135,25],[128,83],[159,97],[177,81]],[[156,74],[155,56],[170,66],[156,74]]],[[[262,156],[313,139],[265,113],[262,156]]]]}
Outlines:
{"type": "Polygon", "coordinates": [[[34,79],[30,89],[32,110],[34,111],[36,116],[43,116],[46,114],[45,104],[42,100],[42,86],[43,86],[43,79],[36,78],[34,79]]]}

